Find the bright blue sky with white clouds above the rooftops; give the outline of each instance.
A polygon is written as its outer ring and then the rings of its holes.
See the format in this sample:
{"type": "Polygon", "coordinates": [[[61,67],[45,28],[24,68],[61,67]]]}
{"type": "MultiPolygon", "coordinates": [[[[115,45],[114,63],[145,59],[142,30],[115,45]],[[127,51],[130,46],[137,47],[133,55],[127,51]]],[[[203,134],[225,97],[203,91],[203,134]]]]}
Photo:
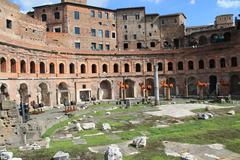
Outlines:
{"type": "MultiPolygon", "coordinates": [[[[33,6],[58,3],[60,0],[11,0],[20,5],[22,11],[33,6]]],[[[214,22],[216,15],[240,14],[240,0],[88,0],[89,5],[111,9],[145,6],[147,13],[172,14],[183,12],[187,26],[207,25],[214,22]]]]}

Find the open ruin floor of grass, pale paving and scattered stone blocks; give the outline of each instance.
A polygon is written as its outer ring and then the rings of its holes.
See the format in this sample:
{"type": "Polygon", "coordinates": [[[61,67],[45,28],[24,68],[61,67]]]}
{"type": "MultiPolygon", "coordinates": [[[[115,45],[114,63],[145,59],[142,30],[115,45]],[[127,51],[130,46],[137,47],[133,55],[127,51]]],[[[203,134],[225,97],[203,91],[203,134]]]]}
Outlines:
{"type": "Polygon", "coordinates": [[[30,121],[46,128],[41,138],[6,149],[23,160],[102,160],[111,154],[117,160],[240,159],[238,101],[176,99],[128,107],[101,102],[64,110],[31,115],[30,121]]]}

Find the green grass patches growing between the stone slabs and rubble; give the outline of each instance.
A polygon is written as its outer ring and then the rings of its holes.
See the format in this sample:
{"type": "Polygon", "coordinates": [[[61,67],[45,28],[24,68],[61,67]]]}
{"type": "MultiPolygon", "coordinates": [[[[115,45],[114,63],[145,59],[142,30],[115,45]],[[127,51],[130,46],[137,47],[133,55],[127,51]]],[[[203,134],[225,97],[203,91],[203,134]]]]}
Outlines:
{"type": "MultiPolygon", "coordinates": [[[[108,105],[107,107],[110,107],[108,105]]],[[[150,106],[133,106],[130,109],[116,109],[110,111],[112,114],[106,116],[102,107],[106,105],[94,106],[83,114],[92,115],[97,120],[98,130],[83,131],[76,133],[76,136],[84,136],[87,134],[95,134],[101,132],[99,128],[102,123],[108,122],[112,125],[113,130],[123,130],[122,133],[105,133],[104,135],[84,137],[86,139],[86,145],[74,145],[72,141],[53,141],[50,149],[42,149],[39,151],[31,152],[18,152],[13,150],[16,155],[23,157],[26,160],[36,159],[48,160],[57,151],[69,152],[71,157],[80,156],[86,160],[102,160],[103,155],[92,154],[88,152],[88,147],[109,145],[113,143],[124,142],[132,140],[133,138],[141,135],[146,135],[148,139],[148,145],[144,149],[140,149],[140,154],[124,157],[125,160],[175,160],[179,158],[167,157],[164,154],[164,147],[162,141],[175,141],[182,143],[192,144],[212,144],[221,143],[234,152],[240,153],[240,109],[235,108],[238,112],[235,116],[228,116],[226,112],[229,109],[214,110],[215,117],[213,119],[202,121],[195,118],[182,119],[185,123],[178,125],[171,125],[168,128],[154,128],[156,120],[169,120],[169,117],[146,117],[143,114],[146,110],[153,110],[150,106]],[[100,109],[100,110],[97,110],[100,109]],[[97,110],[93,113],[92,110],[97,110]],[[127,123],[130,120],[143,121],[138,125],[132,125],[127,123]],[[117,138],[112,138],[113,136],[117,138]]],[[[67,125],[68,122],[79,119],[81,115],[72,117],[64,122],[54,125],[50,128],[44,136],[52,136],[59,129],[67,125]]]]}

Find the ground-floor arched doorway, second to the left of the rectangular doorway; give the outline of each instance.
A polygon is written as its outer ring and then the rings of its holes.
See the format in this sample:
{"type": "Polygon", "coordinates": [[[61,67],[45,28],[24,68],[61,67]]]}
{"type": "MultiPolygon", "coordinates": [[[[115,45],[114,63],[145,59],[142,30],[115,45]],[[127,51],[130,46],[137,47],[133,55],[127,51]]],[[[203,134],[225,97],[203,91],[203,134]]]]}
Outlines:
{"type": "Polygon", "coordinates": [[[48,86],[46,83],[39,84],[41,97],[39,97],[39,102],[43,103],[45,106],[50,106],[50,93],[48,92],[48,86]]]}

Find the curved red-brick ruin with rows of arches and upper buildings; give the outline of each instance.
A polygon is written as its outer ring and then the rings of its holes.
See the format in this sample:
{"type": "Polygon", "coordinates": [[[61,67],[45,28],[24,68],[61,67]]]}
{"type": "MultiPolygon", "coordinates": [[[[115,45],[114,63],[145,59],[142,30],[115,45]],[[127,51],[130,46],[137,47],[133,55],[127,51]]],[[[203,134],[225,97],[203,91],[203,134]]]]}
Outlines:
{"type": "Polygon", "coordinates": [[[65,0],[25,15],[1,0],[1,97],[46,106],[116,100],[122,93],[142,98],[139,83],[153,86],[154,65],[160,81],[174,84],[172,95],[197,96],[200,81],[209,84],[204,96],[239,97],[239,20],[220,17],[215,26],[187,28],[183,13],[146,14],[144,7],[112,10],[65,0]]]}

